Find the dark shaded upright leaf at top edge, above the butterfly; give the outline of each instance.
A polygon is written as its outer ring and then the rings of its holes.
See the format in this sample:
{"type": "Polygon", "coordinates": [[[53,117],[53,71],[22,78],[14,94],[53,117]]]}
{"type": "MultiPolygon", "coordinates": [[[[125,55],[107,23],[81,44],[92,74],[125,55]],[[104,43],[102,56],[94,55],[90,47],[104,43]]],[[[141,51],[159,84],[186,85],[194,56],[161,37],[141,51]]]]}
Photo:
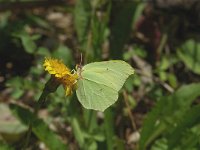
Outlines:
{"type": "Polygon", "coordinates": [[[123,56],[123,47],[130,36],[136,6],[137,2],[127,1],[116,2],[112,7],[110,53],[114,59],[123,56]]]}

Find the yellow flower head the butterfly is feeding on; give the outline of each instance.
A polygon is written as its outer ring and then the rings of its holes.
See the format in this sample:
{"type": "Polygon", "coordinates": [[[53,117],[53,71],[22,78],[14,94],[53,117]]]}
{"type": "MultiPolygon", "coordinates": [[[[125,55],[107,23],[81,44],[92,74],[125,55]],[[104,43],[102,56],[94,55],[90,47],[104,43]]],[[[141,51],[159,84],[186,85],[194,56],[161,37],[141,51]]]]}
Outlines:
{"type": "Polygon", "coordinates": [[[72,90],[76,88],[78,74],[70,71],[65,64],[58,59],[45,58],[44,68],[49,74],[53,75],[65,88],[66,96],[72,94],[72,90]]]}

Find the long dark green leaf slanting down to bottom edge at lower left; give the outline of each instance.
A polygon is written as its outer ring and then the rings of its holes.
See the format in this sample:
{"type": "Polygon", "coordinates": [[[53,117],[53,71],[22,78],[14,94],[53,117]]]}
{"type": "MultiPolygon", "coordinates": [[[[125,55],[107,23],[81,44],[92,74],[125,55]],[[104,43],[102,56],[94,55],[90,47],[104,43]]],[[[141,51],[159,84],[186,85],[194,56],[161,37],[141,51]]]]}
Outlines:
{"type": "Polygon", "coordinates": [[[68,149],[67,145],[62,143],[57,135],[48,128],[48,125],[31,111],[15,104],[11,104],[10,108],[24,125],[28,126],[32,123],[32,131],[49,149],[68,149]]]}

